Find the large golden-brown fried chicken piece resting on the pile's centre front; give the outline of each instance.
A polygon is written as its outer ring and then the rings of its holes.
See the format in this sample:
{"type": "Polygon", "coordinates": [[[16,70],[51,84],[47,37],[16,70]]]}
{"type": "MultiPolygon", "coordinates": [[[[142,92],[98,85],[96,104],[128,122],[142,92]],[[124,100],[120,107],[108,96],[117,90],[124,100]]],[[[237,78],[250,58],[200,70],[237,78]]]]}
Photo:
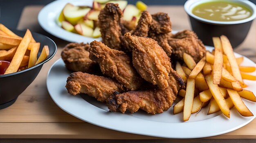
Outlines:
{"type": "Polygon", "coordinates": [[[132,63],[142,78],[157,85],[160,89],[168,87],[170,58],[164,50],[151,38],[124,35],[132,47],[132,63]]]}

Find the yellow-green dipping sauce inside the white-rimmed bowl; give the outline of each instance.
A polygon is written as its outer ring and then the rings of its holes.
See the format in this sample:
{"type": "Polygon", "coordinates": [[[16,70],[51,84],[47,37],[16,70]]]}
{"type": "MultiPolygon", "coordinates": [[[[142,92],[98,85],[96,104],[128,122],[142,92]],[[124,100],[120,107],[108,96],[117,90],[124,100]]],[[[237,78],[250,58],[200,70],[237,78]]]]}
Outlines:
{"type": "Polygon", "coordinates": [[[229,1],[206,2],[195,6],[192,13],[214,21],[237,21],[252,16],[252,11],[243,4],[229,1]]]}

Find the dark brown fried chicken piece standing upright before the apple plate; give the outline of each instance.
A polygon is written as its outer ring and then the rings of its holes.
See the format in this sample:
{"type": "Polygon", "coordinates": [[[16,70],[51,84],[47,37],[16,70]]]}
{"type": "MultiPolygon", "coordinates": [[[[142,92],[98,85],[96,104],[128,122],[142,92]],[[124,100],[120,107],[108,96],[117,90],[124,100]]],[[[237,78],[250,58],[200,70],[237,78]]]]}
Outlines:
{"type": "Polygon", "coordinates": [[[121,48],[121,17],[123,12],[118,4],[108,3],[99,14],[99,27],[103,43],[112,49],[121,48]]]}

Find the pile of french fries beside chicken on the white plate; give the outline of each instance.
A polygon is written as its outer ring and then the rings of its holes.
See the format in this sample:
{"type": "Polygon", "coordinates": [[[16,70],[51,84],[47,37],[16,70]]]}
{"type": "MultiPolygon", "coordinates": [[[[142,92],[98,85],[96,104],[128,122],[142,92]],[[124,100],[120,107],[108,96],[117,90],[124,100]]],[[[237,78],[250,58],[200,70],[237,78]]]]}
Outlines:
{"type": "Polygon", "coordinates": [[[198,113],[208,104],[208,115],[222,111],[230,118],[230,109],[236,107],[240,115],[253,116],[241,98],[256,102],[253,92],[243,79],[256,80],[256,76],[246,74],[254,72],[255,67],[240,66],[243,57],[235,58],[233,49],[226,36],[213,37],[214,50],[195,63],[193,58],[184,53],[184,63],[176,64],[176,71],[186,82],[186,90],[178,95],[183,99],[173,107],[173,114],[183,111],[183,121],[188,121],[191,114],[198,113]]]}

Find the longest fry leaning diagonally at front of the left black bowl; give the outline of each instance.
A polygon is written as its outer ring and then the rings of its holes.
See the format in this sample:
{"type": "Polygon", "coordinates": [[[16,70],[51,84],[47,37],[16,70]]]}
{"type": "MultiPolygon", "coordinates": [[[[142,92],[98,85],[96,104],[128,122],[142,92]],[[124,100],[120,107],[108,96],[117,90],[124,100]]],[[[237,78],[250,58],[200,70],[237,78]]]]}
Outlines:
{"type": "Polygon", "coordinates": [[[25,36],[21,40],[20,45],[18,46],[16,53],[14,54],[13,59],[11,60],[11,63],[4,74],[10,74],[18,71],[18,68],[20,67],[20,63],[27,50],[27,46],[31,41],[31,36],[32,36],[31,32],[27,29],[25,36]]]}

